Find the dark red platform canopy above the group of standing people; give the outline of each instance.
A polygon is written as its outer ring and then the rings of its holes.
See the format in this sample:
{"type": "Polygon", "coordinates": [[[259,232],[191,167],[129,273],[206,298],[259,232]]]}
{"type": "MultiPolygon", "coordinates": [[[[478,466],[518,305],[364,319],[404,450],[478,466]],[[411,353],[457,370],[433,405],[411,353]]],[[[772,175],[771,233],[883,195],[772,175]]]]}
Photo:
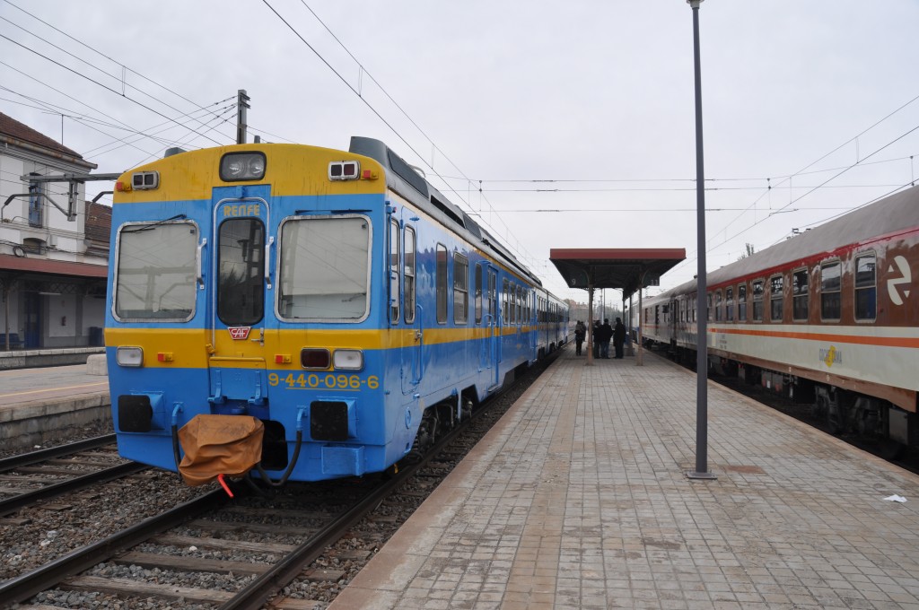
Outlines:
{"type": "Polygon", "coordinates": [[[658,286],[686,260],[685,248],[553,248],[549,259],[571,288],[620,288],[623,298],[658,286]]]}

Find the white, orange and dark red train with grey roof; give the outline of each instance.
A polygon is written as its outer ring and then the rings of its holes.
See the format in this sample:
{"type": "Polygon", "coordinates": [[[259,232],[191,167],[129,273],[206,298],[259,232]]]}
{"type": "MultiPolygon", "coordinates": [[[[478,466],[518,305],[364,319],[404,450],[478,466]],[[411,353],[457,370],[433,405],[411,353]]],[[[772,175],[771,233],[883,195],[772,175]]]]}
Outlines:
{"type": "MultiPolygon", "coordinates": [[[[812,403],[834,432],[919,443],[919,186],[707,277],[709,372],[812,403]]],[[[697,282],[642,303],[646,344],[696,359],[697,282]]]]}

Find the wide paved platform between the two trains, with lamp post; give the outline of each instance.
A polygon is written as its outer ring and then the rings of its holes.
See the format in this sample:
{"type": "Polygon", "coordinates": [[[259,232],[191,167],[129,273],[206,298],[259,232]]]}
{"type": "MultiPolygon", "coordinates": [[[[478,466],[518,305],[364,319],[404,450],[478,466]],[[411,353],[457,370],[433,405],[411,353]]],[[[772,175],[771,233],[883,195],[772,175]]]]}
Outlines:
{"type": "Polygon", "coordinates": [[[568,348],[330,608],[919,608],[919,477],[709,384],[688,480],[695,401],[568,348]]]}

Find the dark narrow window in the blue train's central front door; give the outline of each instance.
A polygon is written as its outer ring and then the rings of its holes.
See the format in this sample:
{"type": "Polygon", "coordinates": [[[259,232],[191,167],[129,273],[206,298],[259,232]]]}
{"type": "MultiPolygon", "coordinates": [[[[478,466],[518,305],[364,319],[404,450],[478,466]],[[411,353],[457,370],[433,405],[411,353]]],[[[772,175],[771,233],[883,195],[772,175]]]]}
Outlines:
{"type": "Polygon", "coordinates": [[[265,225],[225,220],[218,240],[217,317],[228,325],[255,324],[265,313],[265,225]]]}

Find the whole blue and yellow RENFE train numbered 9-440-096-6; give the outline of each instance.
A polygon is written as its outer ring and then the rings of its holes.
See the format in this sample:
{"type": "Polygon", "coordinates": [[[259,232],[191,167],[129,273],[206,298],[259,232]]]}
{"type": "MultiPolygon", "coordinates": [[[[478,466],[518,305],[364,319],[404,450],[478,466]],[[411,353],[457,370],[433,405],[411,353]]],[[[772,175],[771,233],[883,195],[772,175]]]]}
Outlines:
{"type": "Polygon", "coordinates": [[[240,144],[119,179],[122,456],[189,484],[383,471],[566,343],[567,305],[382,142],[240,144]]]}

